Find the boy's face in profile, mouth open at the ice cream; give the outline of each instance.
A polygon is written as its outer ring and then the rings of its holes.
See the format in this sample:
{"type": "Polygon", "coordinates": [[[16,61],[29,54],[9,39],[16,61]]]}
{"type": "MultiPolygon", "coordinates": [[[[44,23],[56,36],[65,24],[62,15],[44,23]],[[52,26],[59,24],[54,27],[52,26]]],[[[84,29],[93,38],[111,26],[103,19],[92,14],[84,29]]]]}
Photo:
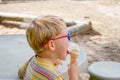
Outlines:
{"type": "MultiPolygon", "coordinates": [[[[64,25],[61,34],[58,35],[57,37],[65,36],[67,34],[68,34],[67,27],[64,25]]],[[[67,50],[68,50],[68,46],[69,46],[69,41],[68,41],[67,37],[57,39],[54,42],[55,42],[55,53],[57,55],[57,58],[61,59],[61,60],[66,60],[67,50]]]]}

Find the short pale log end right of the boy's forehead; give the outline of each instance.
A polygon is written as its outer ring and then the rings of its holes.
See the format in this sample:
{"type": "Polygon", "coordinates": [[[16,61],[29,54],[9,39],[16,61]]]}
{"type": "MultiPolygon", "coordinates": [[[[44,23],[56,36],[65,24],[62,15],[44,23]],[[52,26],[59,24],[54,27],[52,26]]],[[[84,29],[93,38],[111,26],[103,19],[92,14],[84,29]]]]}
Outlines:
{"type": "Polygon", "coordinates": [[[68,27],[68,32],[70,32],[71,36],[74,36],[79,33],[83,33],[92,28],[92,23],[90,21],[86,21],[83,23],[78,23],[74,26],[68,27]]]}

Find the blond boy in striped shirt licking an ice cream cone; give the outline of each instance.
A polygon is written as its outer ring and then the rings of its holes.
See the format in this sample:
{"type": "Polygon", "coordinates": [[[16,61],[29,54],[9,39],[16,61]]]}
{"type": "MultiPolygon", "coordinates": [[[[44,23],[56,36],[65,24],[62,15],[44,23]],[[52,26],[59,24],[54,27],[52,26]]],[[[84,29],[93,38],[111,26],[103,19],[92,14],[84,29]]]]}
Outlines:
{"type": "MultiPolygon", "coordinates": [[[[34,50],[33,56],[18,72],[24,80],[64,80],[57,71],[58,60],[66,60],[70,35],[65,22],[56,16],[36,18],[26,30],[27,41],[34,50]]],[[[78,80],[75,61],[68,69],[69,80],[78,80]]]]}

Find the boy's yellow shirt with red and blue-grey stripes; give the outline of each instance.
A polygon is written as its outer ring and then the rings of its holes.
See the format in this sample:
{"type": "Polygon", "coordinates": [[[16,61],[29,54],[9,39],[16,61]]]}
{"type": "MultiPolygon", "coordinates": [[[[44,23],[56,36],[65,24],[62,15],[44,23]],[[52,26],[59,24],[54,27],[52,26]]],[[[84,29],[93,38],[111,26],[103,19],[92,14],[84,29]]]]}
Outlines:
{"type": "Polygon", "coordinates": [[[24,80],[64,80],[63,76],[56,70],[53,64],[36,57],[30,61],[24,80]]]}

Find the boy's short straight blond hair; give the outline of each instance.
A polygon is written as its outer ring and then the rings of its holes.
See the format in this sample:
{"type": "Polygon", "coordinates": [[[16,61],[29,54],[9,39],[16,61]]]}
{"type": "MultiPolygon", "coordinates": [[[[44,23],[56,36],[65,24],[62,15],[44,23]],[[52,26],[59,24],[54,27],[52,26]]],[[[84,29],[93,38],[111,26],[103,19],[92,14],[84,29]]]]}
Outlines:
{"type": "Polygon", "coordinates": [[[56,16],[36,18],[26,30],[29,45],[36,54],[45,50],[44,43],[61,33],[65,22],[56,16]]]}

